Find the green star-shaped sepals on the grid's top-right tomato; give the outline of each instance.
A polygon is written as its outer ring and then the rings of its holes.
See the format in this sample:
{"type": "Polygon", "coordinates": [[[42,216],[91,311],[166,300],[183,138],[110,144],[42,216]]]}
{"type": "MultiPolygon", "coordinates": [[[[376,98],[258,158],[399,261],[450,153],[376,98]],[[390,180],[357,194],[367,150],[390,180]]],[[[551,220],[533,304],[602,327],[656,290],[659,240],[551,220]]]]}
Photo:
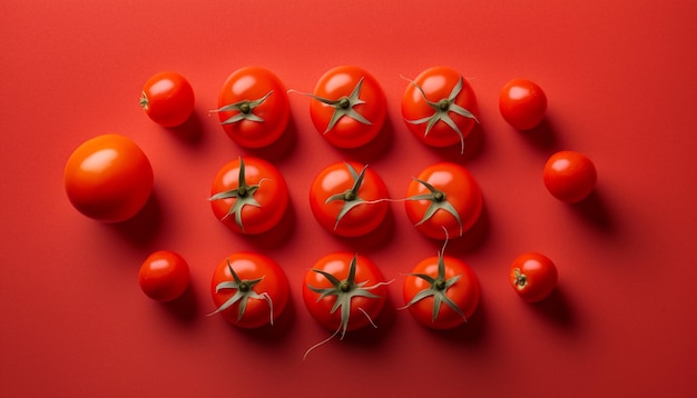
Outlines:
{"type": "Polygon", "coordinates": [[[433,128],[433,126],[435,126],[435,123],[438,123],[439,121],[444,122],[460,138],[460,147],[461,147],[460,153],[464,153],[464,135],[462,133],[458,125],[455,125],[455,122],[450,117],[450,112],[460,115],[469,119],[473,119],[477,123],[479,123],[479,119],[477,118],[477,116],[474,116],[474,113],[472,113],[471,111],[455,103],[455,99],[458,99],[458,96],[460,94],[460,91],[462,91],[462,87],[464,84],[462,77],[460,77],[460,79],[458,80],[458,83],[455,83],[455,86],[452,88],[448,98],[443,98],[442,100],[438,102],[430,101],[426,98],[426,93],[423,91],[421,86],[419,86],[415,81],[406,79],[406,78],[405,80],[408,80],[412,86],[414,86],[421,92],[421,96],[423,97],[426,105],[434,110],[434,113],[429,117],[416,119],[416,120],[406,119],[406,122],[412,123],[412,125],[426,123],[424,137],[428,136],[429,132],[431,132],[431,129],[433,128]]]}

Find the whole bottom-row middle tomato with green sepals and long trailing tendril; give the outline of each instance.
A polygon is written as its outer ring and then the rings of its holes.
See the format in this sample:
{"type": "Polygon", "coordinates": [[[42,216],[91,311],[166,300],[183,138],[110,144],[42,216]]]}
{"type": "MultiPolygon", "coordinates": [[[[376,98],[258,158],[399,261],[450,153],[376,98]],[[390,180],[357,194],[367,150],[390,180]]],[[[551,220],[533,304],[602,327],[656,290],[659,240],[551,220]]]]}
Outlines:
{"type": "Polygon", "coordinates": [[[305,357],[337,335],[343,339],[346,331],[376,327],[387,283],[380,268],[364,256],[335,252],[321,258],[305,276],[303,300],[310,315],[334,334],[311,347],[305,357]]]}

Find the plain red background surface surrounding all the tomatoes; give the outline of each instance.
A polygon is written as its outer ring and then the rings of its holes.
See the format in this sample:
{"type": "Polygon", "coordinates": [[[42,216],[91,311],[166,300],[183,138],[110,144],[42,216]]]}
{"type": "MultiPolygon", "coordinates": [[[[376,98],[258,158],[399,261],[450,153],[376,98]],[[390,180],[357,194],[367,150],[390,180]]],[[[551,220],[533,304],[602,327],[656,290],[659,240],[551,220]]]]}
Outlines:
{"type": "Polygon", "coordinates": [[[3,1],[0,6],[2,250],[0,396],[631,396],[694,391],[697,320],[694,160],[697,79],[693,1],[3,1]],[[284,141],[246,151],[215,117],[235,69],[264,66],[308,91],[331,67],[375,74],[389,101],[381,141],[365,151],[324,142],[308,99],[292,96],[284,141]],[[420,145],[403,125],[400,74],[443,64],[460,70],[480,101],[468,151],[420,145]],[[151,123],[141,84],[174,69],[195,88],[184,128],[151,123]],[[546,123],[529,135],[498,112],[511,78],[539,82],[546,123]],[[62,170],[84,140],[132,138],[156,182],[145,211],[101,225],[75,211],[62,170]],[[599,172],[578,206],[542,186],[549,155],[575,149],[599,172]],[[217,169],[240,153],[274,159],[293,187],[285,229],[236,236],[210,212],[217,169]],[[482,285],[469,325],[420,327],[390,309],[379,329],[305,349],[327,331],[307,315],[300,283],[333,250],[371,257],[402,305],[400,272],[435,253],[400,203],[371,239],[330,236],[312,218],[310,182],[330,162],[370,162],[401,197],[440,160],[479,180],[485,216],[450,253],[482,285]],[[190,291],[173,305],[143,295],[137,270],[157,249],[180,252],[190,291]],[[276,259],[293,282],[293,308],[273,329],[246,332],[222,318],[208,293],[215,265],[238,250],[276,259]],[[558,265],[557,292],[537,306],[508,286],[509,263],[540,250],[558,265]]]}

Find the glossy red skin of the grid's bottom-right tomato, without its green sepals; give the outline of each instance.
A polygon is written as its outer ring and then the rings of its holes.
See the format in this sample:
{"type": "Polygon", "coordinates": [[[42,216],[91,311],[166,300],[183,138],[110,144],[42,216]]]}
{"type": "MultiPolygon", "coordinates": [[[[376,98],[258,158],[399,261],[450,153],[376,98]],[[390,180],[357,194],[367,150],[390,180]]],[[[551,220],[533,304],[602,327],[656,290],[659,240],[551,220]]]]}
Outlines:
{"type": "MultiPolygon", "coordinates": [[[[435,278],[438,276],[438,256],[425,258],[414,267],[412,273],[425,273],[435,278]]],[[[452,329],[465,322],[465,319],[469,319],[479,306],[481,290],[477,275],[464,261],[449,256],[444,256],[443,261],[445,263],[445,279],[460,276],[460,279],[446,290],[445,295],[458,305],[464,318],[443,302],[438,316],[433,319],[434,298],[432,296],[408,307],[419,324],[441,330],[452,329]]],[[[409,275],[404,279],[404,302],[410,302],[416,293],[428,289],[429,286],[426,280],[409,275]]]]}

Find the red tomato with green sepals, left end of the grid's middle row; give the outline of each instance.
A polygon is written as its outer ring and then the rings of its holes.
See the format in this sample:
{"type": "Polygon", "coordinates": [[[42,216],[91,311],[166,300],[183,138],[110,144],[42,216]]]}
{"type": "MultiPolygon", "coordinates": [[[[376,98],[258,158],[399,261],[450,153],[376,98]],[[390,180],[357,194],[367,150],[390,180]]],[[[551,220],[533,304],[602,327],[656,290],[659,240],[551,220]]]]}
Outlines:
{"type": "Polygon", "coordinates": [[[283,219],[288,187],[281,171],[266,160],[240,157],[220,168],[210,188],[213,213],[229,229],[263,233],[283,219]]]}

